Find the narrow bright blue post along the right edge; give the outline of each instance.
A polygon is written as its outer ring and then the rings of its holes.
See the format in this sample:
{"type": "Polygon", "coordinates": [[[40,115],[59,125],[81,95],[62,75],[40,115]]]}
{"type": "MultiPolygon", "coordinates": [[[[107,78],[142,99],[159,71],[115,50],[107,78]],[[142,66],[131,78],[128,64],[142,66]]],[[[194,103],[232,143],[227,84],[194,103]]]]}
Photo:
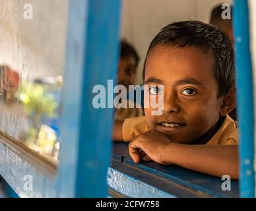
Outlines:
{"type": "Polygon", "coordinates": [[[255,197],[253,75],[247,0],[234,0],[234,37],[240,133],[240,195],[255,197]]]}

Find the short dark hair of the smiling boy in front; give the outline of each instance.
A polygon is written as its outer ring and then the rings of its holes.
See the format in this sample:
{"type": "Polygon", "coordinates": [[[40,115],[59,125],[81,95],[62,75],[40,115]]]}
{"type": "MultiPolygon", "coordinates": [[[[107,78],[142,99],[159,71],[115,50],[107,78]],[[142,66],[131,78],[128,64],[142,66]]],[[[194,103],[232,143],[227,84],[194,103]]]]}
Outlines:
{"type": "MultiPolygon", "coordinates": [[[[234,49],[224,33],[217,28],[199,21],[174,22],[165,26],[154,37],[148,52],[156,45],[174,47],[201,47],[214,57],[214,75],[218,82],[218,96],[227,94],[235,85],[234,49]]],[[[148,55],[146,53],[146,57],[148,55]]],[[[144,61],[143,78],[146,59],[144,61]]]]}

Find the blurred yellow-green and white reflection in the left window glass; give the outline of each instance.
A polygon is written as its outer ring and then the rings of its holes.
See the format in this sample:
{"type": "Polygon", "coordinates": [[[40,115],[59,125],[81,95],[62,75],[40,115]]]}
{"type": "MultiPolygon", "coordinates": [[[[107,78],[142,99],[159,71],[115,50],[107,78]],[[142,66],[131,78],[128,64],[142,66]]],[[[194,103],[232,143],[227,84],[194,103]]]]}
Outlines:
{"type": "MultiPolygon", "coordinates": [[[[40,80],[38,80],[40,81],[40,80]]],[[[59,121],[61,115],[60,93],[62,77],[51,78],[46,82],[23,82],[18,101],[22,104],[28,129],[20,138],[26,146],[42,154],[57,158],[59,150],[59,121]]]]}

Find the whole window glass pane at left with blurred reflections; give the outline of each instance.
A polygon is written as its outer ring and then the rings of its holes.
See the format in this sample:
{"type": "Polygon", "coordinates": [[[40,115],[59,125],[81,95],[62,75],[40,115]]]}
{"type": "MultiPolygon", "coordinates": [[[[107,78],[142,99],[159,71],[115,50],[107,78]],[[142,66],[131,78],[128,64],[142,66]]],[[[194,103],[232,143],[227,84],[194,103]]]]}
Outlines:
{"type": "Polygon", "coordinates": [[[68,0],[1,0],[0,5],[0,133],[55,160],[67,5],[68,0]],[[24,18],[27,3],[30,20],[24,18]]]}

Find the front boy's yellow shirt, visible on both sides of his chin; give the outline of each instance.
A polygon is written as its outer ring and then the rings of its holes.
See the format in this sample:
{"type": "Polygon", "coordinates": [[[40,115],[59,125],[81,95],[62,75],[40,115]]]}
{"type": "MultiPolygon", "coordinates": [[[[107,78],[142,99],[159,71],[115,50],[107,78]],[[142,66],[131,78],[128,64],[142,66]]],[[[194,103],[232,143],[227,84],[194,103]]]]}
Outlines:
{"type": "MultiPolygon", "coordinates": [[[[149,130],[145,117],[125,119],[122,127],[123,140],[129,142],[141,133],[149,130]]],[[[238,144],[238,124],[229,115],[226,115],[222,126],[210,138],[207,144],[228,145],[238,144]]]]}

